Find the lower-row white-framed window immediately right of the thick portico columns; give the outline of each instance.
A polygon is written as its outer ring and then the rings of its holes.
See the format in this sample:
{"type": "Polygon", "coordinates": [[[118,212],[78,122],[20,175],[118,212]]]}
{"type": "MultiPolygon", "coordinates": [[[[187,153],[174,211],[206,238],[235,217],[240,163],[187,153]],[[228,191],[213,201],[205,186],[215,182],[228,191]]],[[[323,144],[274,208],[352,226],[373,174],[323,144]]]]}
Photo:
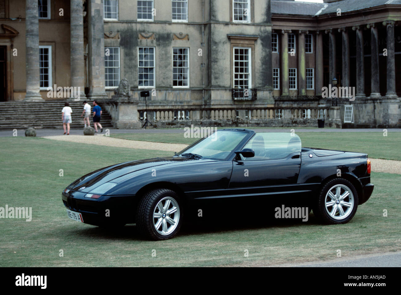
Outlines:
{"type": "Polygon", "coordinates": [[[120,83],[120,48],[105,47],[105,49],[105,87],[117,87],[120,83]],[[108,52],[107,49],[109,49],[108,52]]]}

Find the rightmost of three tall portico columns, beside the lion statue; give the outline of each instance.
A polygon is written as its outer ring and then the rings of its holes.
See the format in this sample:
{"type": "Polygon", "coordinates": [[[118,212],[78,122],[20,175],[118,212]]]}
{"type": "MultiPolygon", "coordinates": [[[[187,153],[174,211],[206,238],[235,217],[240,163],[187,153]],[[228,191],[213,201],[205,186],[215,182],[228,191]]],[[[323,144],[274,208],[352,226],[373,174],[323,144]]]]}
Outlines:
{"type": "Polygon", "coordinates": [[[88,2],[88,78],[90,100],[107,98],[104,73],[103,1],[88,2]]]}

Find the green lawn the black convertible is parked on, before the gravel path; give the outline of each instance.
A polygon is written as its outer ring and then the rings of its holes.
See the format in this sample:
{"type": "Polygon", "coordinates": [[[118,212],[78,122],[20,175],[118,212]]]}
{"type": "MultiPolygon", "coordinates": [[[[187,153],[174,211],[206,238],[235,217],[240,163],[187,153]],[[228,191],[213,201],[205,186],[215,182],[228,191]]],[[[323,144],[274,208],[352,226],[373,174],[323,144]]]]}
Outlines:
{"type": "Polygon", "coordinates": [[[348,224],[325,226],[311,214],[308,222],[186,226],[172,240],[151,242],[134,225],[110,232],[70,220],[61,191],[99,167],[170,153],[44,138],[0,144],[0,206],[32,207],[33,215],[0,219],[0,267],[251,266],[336,258],[338,249],[342,257],[401,250],[401,175],[373,173],[373,196],[348,224]]]}

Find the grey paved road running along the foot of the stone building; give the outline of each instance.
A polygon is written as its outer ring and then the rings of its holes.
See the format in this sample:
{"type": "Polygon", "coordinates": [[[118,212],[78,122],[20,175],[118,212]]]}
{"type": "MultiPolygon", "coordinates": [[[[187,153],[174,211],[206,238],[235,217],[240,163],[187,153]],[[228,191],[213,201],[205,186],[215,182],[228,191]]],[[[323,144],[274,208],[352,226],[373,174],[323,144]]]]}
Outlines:
{"type": "MultiPolygon", "coordinates": [[[[241,127],[243,128],[243,127],[241,127]]],[[[245,128],[245,127],[244,127],[245,128]]],[[[252,129],[252,127],[249,127],[252,129]]],[[[292,128],[255,128],[257,132],[290,132],[292,128]]],[[[83,135],[83,129],[71,129],[71,135],[83,135]]],[[[401,132],[401,128],[389,128],[388,132],[401,132]]],[[[24,129],[18,129],[18,133],[24,134],[24,129]]],[[[104,130],[103,130],[104,132],[104,130]]],[[[160,128],[147,128],[147,129],[113,129],[110,128],[110,133],[183,133],[184,128],[171,128],[171,129],[160,129],[160,128]]],[[[338,129],[338,128],[316,128],[316,129],[306,129],[306,128],[295,128],[295,132],[381,132],[381,128],[372,129],[338,129]]],[[[36,136],[52,136],[52,135],[63,135],[63,129],[37,129],[36,136]]],[[[0,131],[0,137],[2,136],[12,136],[12,130],[0,131]]]]}

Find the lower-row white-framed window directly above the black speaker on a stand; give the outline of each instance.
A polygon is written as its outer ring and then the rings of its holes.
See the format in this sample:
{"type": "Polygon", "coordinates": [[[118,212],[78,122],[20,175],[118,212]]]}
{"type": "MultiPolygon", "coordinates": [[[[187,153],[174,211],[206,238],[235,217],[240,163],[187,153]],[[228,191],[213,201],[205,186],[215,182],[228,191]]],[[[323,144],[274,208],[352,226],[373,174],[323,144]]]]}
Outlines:
{"type": "Polygon", "coordinates": [[[154,47],[138,47],[138,88],[155,87],[154,47]]]}

